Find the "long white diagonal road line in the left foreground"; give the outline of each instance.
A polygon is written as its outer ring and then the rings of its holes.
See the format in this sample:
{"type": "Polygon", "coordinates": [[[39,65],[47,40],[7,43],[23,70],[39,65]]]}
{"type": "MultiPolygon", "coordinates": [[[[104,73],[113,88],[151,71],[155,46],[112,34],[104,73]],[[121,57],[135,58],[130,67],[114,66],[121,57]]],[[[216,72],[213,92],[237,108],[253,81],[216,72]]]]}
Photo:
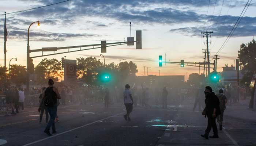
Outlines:
{"type": "Polygon", "coordinates": [[[38,141],[34,141],[34,142],[31,142],[31,143],[28,143],[28,144],[23,145],[23,146],[30,146],[30,145],[33,145],[34,143],[38,143],[38,142],[44,141],[44,140],[46,140],[46,139],[50,139],[50,138],[53,138],[53,137],[57,137],[57,136],[59,136],[59,135],[65,134],[65,133],[67,133],[67,132],[71,132],[71,131],[74,131],[74,130],[76,130],[76,129],[83,128],[83,127],[89,126],[89,125],[91,125],[91,124],[94,124],[94,123],[100,122],[100,121],[102,121],[102,120],[106,120],[106,119],[109,119],[109,118],[112,118],[112,117],[114,117],[114,116],[118,116],[118,115],[121,115],[121,114],[124,114],[124,113],[125,113],[125,112],[122,112],[122,113],[117,114],[117,115],[109,116],[109,117],[107,117],[107,118],[100,119],[100,120],[91,122],[91,123],[89,123],[89,124],[85,124],[85,125],[83,125],[83,126],[76,127],[76,128],[74,128],[74,129],[71,129],[71,130],[68,130],[68,131],[64,131],[64,132],[61,132],[61,133],[59,133],[59,134],[56,134],[56,135],[53,135],[53,136],[50,136],[50,137],[46,137],[46,138],[40,139],[40,140],[38,140],[38,141]]]}

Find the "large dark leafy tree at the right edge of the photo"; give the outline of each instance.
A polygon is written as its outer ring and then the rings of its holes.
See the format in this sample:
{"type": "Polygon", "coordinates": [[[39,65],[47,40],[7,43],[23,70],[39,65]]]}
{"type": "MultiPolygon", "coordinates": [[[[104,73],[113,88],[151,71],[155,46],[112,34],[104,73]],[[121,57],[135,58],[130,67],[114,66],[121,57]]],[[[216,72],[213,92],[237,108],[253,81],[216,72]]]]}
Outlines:
{"type": "Polygon", "coordinates": [[[249,86],[253,76],[256,74],[256,41],[253,39],[249,43],[242,43],[238,51],[238,58],[240,59],[240,66],[243,74],[242,84],[249,86]]]}

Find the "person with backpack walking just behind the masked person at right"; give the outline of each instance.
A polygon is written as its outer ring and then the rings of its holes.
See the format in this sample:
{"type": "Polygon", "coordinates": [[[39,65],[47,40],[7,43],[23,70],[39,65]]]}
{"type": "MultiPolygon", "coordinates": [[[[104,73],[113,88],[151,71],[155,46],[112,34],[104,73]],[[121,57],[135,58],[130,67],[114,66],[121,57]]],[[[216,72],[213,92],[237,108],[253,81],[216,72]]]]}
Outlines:
{"type": "Polygon", "coordinates": [[[221,114],[217,116],[217,121],[219,123],[219,130],[222,130],[222,122],[223,122],[223,114],[226,109],[227,97],[223,94],[223,90],[219,90],[219,94],[217,95],[219,99],[219,107],[221,110],[221,114]]]}

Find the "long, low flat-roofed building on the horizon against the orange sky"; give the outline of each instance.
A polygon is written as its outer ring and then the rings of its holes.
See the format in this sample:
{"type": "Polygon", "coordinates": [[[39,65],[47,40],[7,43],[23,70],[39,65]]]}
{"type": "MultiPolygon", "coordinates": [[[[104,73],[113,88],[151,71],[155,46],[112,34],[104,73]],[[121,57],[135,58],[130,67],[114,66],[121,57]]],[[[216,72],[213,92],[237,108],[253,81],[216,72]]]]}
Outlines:
{"type": "Polygon", "coordinates": [[[147,87],[181,87],[184,85],[185,76],[137,76],[137,84],[147,87]]]}

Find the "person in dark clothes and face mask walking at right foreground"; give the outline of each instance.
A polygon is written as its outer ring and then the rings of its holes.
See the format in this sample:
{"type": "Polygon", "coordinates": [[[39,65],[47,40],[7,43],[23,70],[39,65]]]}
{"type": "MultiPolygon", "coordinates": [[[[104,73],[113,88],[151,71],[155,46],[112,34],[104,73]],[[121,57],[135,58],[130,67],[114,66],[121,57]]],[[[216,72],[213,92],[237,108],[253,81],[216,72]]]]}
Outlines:
{"type": "Polygon", "coordinates": [[[202,112],[202,115],[207,116],[207,128],[205,130],[205,134],[201,135],[205,139],[208,139],[208,135],[211,131],[211,128],[213,130],[213,136],[210,136],[210,138],[219,138],[218,136],[218,129],[216,125],[216,117],[221,114],[220,107],[219,107],[219,99],[215,95],[214,92],[212,92],[212,88],[210,86],[207,86],[204,90],[204,94],[206,99],[204,100],[206,107],[204,108],[204,111],[202,112]]]}

